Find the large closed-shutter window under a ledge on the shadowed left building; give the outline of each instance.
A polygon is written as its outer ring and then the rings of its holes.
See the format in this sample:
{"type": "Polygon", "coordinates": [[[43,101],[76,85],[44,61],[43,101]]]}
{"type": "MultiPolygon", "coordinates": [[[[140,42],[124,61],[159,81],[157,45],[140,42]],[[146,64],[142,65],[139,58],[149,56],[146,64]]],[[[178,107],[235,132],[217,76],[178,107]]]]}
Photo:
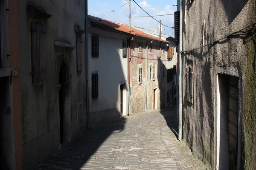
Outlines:
{"type": "Polygon", "coordinates": [[[31,60],[32,60],[32,82],[45,80],[44,65],[44,26],[38,23],[31,23],[31,60]]]}

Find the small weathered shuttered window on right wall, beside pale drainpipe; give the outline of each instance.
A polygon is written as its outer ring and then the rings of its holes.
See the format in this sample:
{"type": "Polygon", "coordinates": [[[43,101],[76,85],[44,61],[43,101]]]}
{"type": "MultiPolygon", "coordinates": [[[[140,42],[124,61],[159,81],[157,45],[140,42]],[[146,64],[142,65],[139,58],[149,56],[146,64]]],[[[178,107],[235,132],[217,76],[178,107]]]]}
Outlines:
{"type": "Polygon", "coordinates": [[[188,66],[186,70],[186,94],[187,94],[187,101],[193,103],[194,93],[193,93],[193,67],[188,66]]]}

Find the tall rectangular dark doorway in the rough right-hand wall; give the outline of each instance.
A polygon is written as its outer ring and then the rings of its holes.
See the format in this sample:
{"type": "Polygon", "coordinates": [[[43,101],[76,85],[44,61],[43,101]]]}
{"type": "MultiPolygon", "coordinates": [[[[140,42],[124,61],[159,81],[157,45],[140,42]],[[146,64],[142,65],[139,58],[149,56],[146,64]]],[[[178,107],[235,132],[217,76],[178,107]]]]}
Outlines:
{"type": "Polygon", "coordinates": [[[237,169],[238,77],[218,74],[220,106],[219,170],[237,169]]]}

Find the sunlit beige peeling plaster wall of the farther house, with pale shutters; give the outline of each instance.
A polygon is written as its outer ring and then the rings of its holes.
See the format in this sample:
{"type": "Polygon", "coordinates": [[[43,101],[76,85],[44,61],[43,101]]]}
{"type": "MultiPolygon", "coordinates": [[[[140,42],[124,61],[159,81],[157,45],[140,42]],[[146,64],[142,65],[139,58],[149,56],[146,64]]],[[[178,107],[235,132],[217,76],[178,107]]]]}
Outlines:
{"type": "MultiPolygon", "coordinates": [[[[150,40],[147,40],[148,44],[150,40]]],[[[175,60],[168,61],[167,59],[167,43],[160,45],[160,42],[154,41],[153,53],[148,52],[148,65],[155,65],[155,80],[149,82],[148,77],[148,93],[147,93],[147,111],[153,109],[154,89],[156,90],[156,103],[155,109],[163,108],[167,105],[167,91],[171,87],[171,82],[167,83],[167,68],[172,68],[175,65],[175,60]],[[165,54],[162,54],[160,48],[165,46],[165,54]],[[165,63],[165,78],[162,79],[162,64],[165,63]]],[[[146,82],[146,43],[145,40],[133,37],[131,40],[131,61],[130,61],[130,87],[132,93],[130,95],[130,110],[129,113],[136,114],[145,111],[145,82],[146,82]],[[138,53],[138,42],[143,42],[143,53],[138,53]],[[138,84],[138,64],[142,64],[142,83],[138,84]]],[[[149,66],[148,66],[149,75],[149,66]]]]}

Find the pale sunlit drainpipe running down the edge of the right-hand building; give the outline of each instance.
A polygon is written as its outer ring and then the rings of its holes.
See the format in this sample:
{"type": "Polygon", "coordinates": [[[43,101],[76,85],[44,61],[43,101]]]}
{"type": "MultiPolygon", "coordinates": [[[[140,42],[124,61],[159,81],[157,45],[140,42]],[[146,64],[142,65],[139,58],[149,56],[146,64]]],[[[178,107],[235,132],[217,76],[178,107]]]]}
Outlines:
{"type": "Polygon", "coordinates": [[[179,118],[179,137],[182,140],[182,61],[181,53],[182,50],[182,0],[177,0],[177,9],[180,11],[180,35],[179,35],[179,45],[178,45],[178,118],[179,118]]]}

